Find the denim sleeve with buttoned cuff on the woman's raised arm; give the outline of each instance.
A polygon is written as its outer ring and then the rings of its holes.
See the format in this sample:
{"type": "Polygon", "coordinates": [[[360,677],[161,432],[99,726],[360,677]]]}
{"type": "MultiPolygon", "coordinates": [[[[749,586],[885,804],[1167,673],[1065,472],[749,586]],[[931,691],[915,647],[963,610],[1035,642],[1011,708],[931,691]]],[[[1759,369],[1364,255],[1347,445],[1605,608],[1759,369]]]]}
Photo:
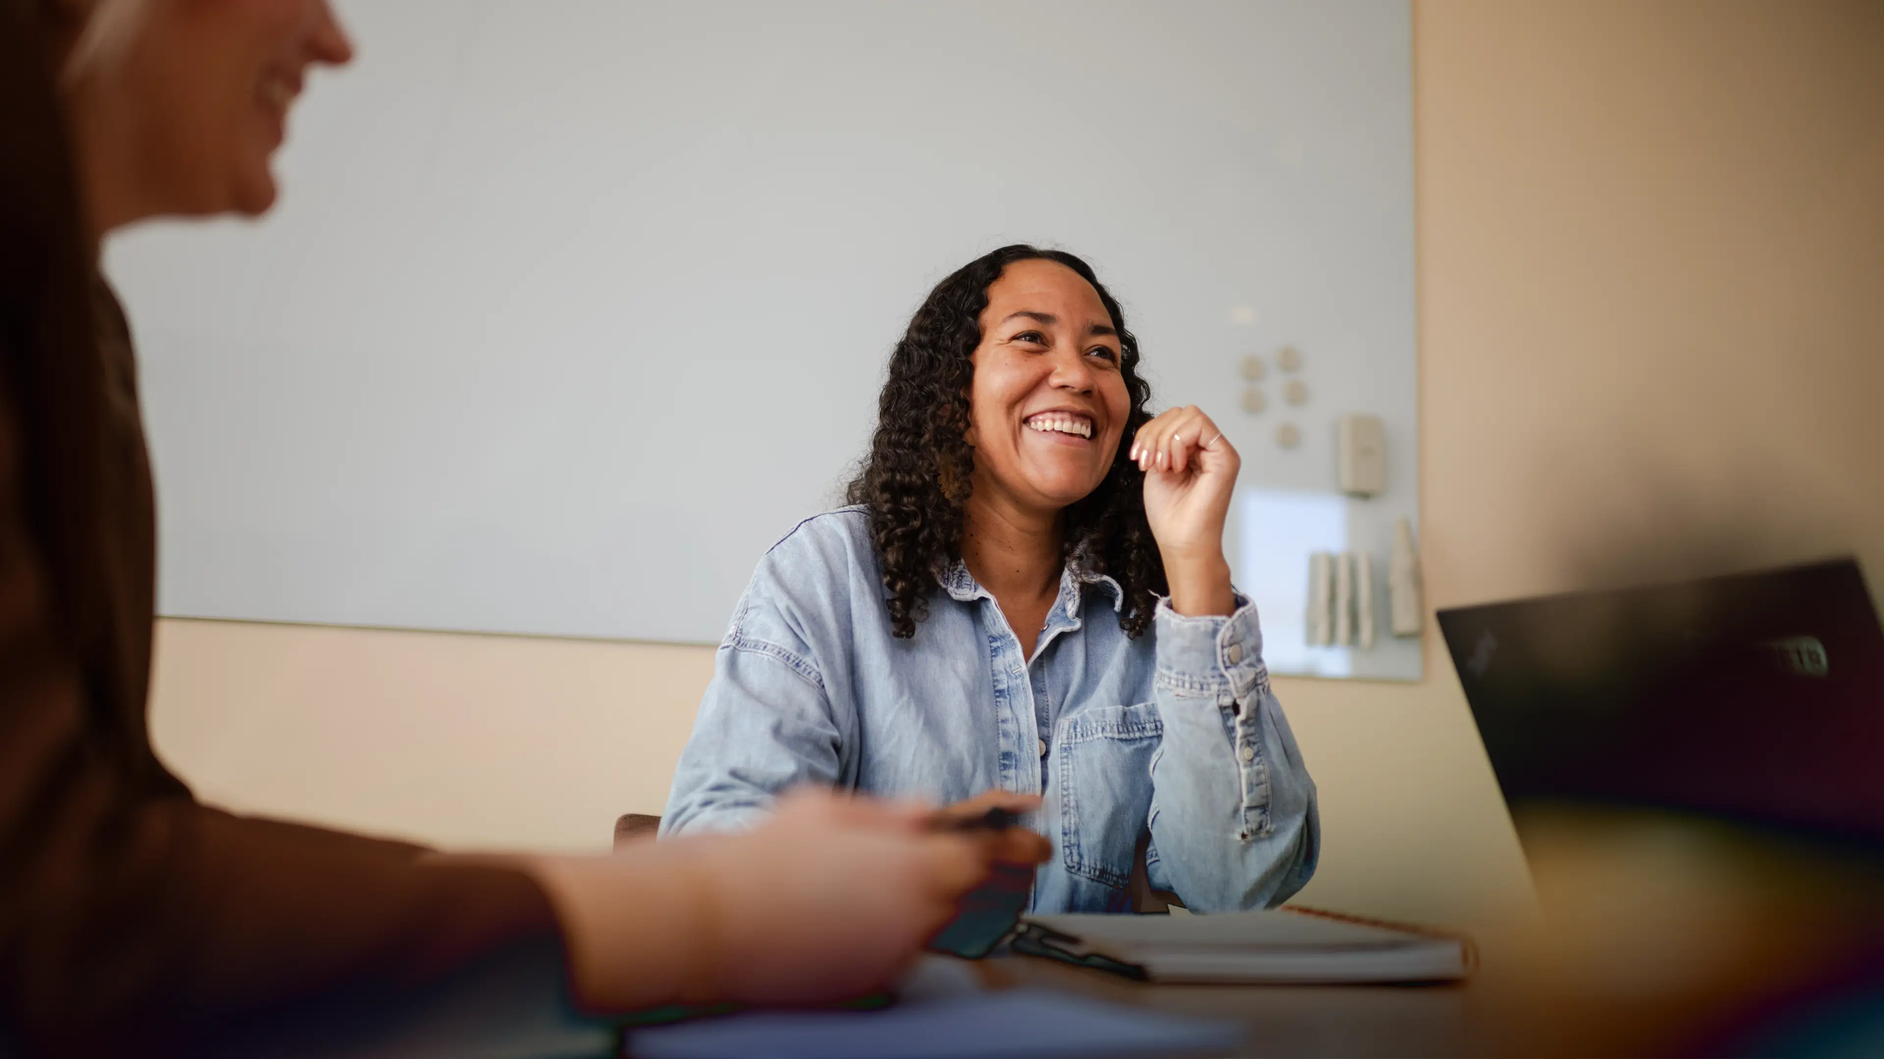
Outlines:
{"type": "Polygon", "coordinates": [[[1257,609],[1185,618],[1157,609],[1149,882],[1194,912],[1281,904],[1315,874],[1321,818],[1262,665],[1257,609]]]}

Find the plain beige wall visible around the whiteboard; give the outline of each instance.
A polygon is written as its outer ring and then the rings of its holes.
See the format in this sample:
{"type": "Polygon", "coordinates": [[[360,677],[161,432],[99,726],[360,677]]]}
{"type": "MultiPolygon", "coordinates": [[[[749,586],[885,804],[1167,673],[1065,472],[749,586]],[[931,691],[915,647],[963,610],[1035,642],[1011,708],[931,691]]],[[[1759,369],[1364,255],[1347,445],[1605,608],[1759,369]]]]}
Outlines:
{"type": "MultiPolygon", "coordinates": [[[[1428,603],[1856,552],[1884,571],[1884,4],[1415,6],[1428,603]]],[[[705,648],[162,622],[209,799],[445,846],[658,812],[705,648]]],[[[1477,921],[1528,882],[1437,643],[1277,680],[1304,901],[1477,921]]]]}

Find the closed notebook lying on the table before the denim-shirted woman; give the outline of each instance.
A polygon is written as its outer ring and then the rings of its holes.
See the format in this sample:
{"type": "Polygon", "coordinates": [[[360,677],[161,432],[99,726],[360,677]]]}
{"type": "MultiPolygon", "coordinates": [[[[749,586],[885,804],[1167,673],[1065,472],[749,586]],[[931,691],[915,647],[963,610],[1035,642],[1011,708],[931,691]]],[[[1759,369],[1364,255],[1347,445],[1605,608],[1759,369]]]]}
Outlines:
{"type": "Polygon", "coordinates": [[[1200,984],[1453,982],[1477,963],[1460,935],[1307,908],[1029,916],[1014,948],[1130,978],[1200,984]]]}

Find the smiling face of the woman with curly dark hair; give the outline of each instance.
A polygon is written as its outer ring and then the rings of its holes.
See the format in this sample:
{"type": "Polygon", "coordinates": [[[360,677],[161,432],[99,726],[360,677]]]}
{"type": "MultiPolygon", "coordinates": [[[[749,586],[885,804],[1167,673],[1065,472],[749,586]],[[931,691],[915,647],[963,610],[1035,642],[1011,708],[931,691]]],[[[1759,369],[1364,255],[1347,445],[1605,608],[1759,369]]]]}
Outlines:
{"type": "Polygon", "coordinates": [[[1057,513],[1106,481],[1132,411],[1119,332],[1093,285],[1049,260],[987,288],[974,350],[974,496],[1057,513]]]}

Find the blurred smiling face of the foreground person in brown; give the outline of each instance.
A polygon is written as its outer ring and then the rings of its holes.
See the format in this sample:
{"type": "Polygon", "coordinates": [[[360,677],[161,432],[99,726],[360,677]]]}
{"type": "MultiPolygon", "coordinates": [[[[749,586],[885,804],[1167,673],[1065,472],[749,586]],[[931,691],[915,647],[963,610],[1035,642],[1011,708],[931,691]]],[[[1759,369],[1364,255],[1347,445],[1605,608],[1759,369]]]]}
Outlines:
{"type": "Polygon", "coordinates": [[[98,0],[66,75],[143,213],[256,215],[307,68],[349,58],[326,0],[98,0]]]}

